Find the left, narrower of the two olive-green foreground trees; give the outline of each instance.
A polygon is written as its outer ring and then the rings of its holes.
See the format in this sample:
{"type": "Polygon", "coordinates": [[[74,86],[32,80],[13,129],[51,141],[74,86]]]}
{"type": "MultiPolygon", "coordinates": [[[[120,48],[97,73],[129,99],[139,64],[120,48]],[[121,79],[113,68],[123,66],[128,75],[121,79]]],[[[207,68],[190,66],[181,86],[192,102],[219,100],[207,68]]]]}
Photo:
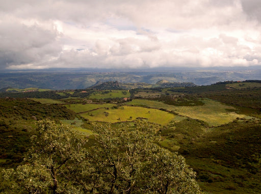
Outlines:
{"type": "Polygon", "coordinates": [[[77,192],[78,183],[72,179],[86,156],[86,139],[68,126],[53,121],[38,122],[37,135],[31,137],[33,146],[16,170],[6,170],[6,178],[15,180],[12,190],[21,193],[77,192]]]}

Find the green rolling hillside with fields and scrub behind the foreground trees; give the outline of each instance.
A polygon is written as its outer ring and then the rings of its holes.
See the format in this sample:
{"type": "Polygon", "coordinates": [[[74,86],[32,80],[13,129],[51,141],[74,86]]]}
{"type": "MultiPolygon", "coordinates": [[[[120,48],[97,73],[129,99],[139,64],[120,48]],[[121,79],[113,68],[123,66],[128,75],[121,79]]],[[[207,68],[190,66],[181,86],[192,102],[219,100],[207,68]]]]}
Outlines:
{"type": "MultiPolygon", "coordinates": [[[[95,144],[95,125],[135,126],[153,123],[158,144],[178,152],[197,173],[207,193],[258,193],[261,187],[261,83],[224,81],[181,87],[168,80],[154,85],[98,82],[85,90],[2,92],[23,98],[0,98],[2,167],[21,162],[35,120],[69,124],[95,144]],[[173,84],[177,87],[172,87],[173,84]],[[155,87],[155,85],[163,87],[155,87]],[[165,88],[165,86],[170,86],[165,88]],[[193,87],[194,86],[194,87],[193,87]],[[117,89],[116,89],[117,88],[117,89]],[[34,96],[34,97],[33,97],[34,96]],[[31,99],[27,99],[27,98],[31,99]]],[[[1,189],[1,188],[0,188],[1,189]]]]}

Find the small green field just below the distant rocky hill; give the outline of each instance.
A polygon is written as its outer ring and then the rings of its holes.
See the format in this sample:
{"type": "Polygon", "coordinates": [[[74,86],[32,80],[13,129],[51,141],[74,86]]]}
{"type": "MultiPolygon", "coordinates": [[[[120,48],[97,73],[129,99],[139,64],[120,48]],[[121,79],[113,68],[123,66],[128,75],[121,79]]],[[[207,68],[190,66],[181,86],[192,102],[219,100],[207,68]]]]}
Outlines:
{"type": "Polygon", "coordinates": [[[129,98],[131,94],[127,90],[104,90],[94,92],[89,98],[106,99],[106,98],[129,98]]]}

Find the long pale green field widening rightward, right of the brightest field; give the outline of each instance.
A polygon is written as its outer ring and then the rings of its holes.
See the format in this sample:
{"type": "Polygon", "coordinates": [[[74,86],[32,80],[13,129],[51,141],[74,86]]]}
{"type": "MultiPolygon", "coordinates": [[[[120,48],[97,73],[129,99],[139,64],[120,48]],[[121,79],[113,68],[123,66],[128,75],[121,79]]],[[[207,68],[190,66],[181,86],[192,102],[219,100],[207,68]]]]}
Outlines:
{"type": "MultiPolygon", "coordinates": [[[[228,106],[210,99],[203,99],[202,101],[205,103],[202,106],[172,106],[164,104],[163,102],[151,100],[133,100],[126,103],[137,106],[173,110],[181,116],[202,120],[208,123],[210,126],[219,126],[225,123],[229,123],[236,118],[248,118],[245,115],[239,115],[235,112],[230,112],[227,110],[234,109],[233,106],[228,106]]],[[[236,109],[234,110],[236,111],[236,109]]]]}

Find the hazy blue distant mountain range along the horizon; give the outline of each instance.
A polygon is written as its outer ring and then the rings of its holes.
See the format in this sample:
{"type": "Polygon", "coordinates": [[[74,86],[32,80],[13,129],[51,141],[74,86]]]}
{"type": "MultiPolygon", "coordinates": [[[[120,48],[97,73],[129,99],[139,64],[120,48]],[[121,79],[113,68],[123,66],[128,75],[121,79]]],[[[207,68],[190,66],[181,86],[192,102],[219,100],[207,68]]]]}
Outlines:
{"type": "MultiPolygon", "coordinates": [[[[261,80],[261,69],[251,70],[86,70],[55,69],[32,71],[3,71],[0,73],[0,89],[2,88],[41,88],[51,90],[85,89],[98,83],[118,81],[142,85],[160,85],[172,87],[173,83],[193,83],[195,85],[211,85],[219,81],[261,80]],[[165,81],[162,81],[165,80],[165,81]],[[159,82],[160,81],[160,82],[159,82]],[[170,84],[171,83],[171,84],[170,84]]],[[[178,84],[177,84],[178,85],[178,84]]],[[[186,84],[187,85],[187,84],[186,84]]],[[[123,87],[123,86],[121,86],[123,87]]],[[[180,87],[180,86],[179,86],[180,87]]]]}

